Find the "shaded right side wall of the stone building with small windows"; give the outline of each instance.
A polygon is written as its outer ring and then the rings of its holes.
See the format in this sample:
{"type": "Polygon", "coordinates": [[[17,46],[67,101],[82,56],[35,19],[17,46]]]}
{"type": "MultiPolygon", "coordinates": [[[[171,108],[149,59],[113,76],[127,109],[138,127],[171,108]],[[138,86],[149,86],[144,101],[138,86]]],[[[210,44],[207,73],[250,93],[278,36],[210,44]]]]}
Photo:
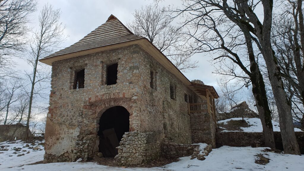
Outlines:
{"type": "Polygon", "coordinates": [[[198,100],[201,98],[150,54],[140,51],[140,57],[143,61],[140,65],[140,83],[144,100],[141,123],[145,125],[142,131],[160,131],[170,141],[191,144],[191,123],[185,94],[198,100]],[[154,73],[154,88],[150,86],[151,72],[154,73]],[[174,87],[174,99],[170,97],[170,85],[174,87]]]}

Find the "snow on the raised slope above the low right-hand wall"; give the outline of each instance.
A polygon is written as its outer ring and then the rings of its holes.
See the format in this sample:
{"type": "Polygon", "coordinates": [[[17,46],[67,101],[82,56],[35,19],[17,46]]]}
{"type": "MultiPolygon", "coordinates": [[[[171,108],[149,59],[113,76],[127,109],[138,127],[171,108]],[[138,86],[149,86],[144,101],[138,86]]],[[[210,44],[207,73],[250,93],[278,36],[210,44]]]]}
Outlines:
{"type": "MultiPolygon", "coordinates": [[[[228,121],[230,120],[242,120],[241,117],[236,117],[236,118],[230,118],[226,120],[220,120],[218,123],[224,123],[228,124],[228,121]]],[[[244,132],[263,132],[263,127],[261,120],[259,118],[244,118],[244,120],[250,125],[250,127],[240,127],[240,129],[244,130],[244,132]]],[[[279,123],[276,121],[272,120],[272,125],[273,125],[273,131],[280,131],[280,126],[279,123]]],[[[220,127],[223,128],[223,127],[220,127]]],[[[225,128],[223,128],[225,129],[225,128]]],[[[302,131],[299,128],[295,128],[295,131],[302,131]]],[[[228,130],[223,130],[221,132],[238,132],[238,131],[228,131],[228,130]]]]}

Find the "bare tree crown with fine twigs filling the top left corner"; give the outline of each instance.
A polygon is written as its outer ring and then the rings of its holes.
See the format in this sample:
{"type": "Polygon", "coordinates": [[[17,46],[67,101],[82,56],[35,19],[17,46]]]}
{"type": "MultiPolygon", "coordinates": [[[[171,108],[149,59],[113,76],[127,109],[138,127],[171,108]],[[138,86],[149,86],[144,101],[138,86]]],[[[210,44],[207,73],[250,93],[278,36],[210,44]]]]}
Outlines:
{"type": "Polygon", "coordinates": [[[36,0],[0,1],[1,72],[12,65],[10,55],[25,50],[26,34],[29,31],[26,24],[29,22],[29,15],[35,10],[36,0]]]}

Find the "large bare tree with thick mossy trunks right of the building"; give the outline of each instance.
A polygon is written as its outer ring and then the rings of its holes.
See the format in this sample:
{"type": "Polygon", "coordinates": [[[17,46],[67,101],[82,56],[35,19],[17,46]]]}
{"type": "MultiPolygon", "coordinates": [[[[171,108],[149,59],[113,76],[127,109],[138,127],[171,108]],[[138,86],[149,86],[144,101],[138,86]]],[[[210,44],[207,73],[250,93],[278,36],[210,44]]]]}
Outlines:
{"type": "MultiPolygon", "coordinates": [[[[257,65],[255,48],[259,50],[268,70],[268,77],[270,79],[272,91],[274,92],[275,101],[277,104],[278,114],[280,118],[280,128],[283,141],[283,147],[286,153],[289,154],[300,154],[299,145],[297,143],[294,127],[292,122],[292,113],[291,107],[289,106],[288,100],[286,99],[286,93],[283,87],[280,67],[278,66],[275,53],[271,47],[271,25],[272,25],[272,8],[273,1],[261,0],[261,1],[246,1],[246,0],[237,0],[237,1],[217,1],[217,0],[191,0],[187,1],[184,4],[184,9],[176,10],[179,15],[182,15],[186,12],[198,12],[198,14],[190,15],[191,17],[187,18],[185,24],[193,23],[193,21],[198,21],[199,23],[208,23],[203,26],[207,28],[214,28],[218,23],[223,24],[222,29],[233,30],[237,33],[230,34],[219,34],[216,32],[216,29],[211,29],[215,31],[210,34],[216,34],[215,44],[208,44],[211,47],[212,51],[218,47],[224,49],[228,54],[225,58],[230,58],[231,60],[241,63],[239,61],[239,55],[231,51],[231,48],[225,49],[225,40],[227,36],[235,35],[237,37],[234,40],[238,40],[239,35],[243,35],[242,42],[247,49],[248,59],[250,61],[250,72],[247,73],[246,66],[239,65],[240,68],[250,76],[250,81],[253,84],[253,93],[257,101],[257,105],[261,106],[261,112],[259,107],[259,115],[263,124],[263,130],[265,133],[270,133],[268,136],[265,134],[265,138],[269,136],[273,137],[272,124],[271,124],[271,115],[269,112],[268,101],[265,92],[265,84],[263,76],[261,75],[260,68],[257,65]],[[255,11],[256,7],[263,9],[263,21],[257,17],[255,11]],[[227,24],[227,25],[225,25],[227,24]],[[237,26],[237,27],[234,27],[237,26]],[[219,41],[217,41],[219,40],[219,41]],[[223,46],[224,45],[224,46],[223,46]],[[215,47],[215,48],[214,48],[215,47]],[[233,56],[234,58],[231,58],[233,56]],[[266,110],[265,110],[266,109],[266,110]],[[264,115],[264,116],[261,116],[264,115]],[[267,129],[267,131],[265,131],[267,129]]],[[[197,24],[196,24],[197,25],[197,24]]],[[[197,25],[202,26],[202,25],[197,25]]],[[[199,27],[201,28],[201,27],[199,27]]],[[[195,38],[195,37],[194,37],[195,38]]],[[[199,37],[198,40],[200,43],[204,43],[203,40],[206,40],[204,37],[199,37]]],[[[213,40],[214,40],[213,39],[213,40]]],[[[206,45],[206,44],[203,44],[206,45]]],[[[207,45],[207,46],[208,46],[207,45]]],[[[239,43],[228,44],[228,45],[237,45],[239,43]]],[[[236,49],[233,49],[234,51],[236,49]]],[[[222,56],[223,57],[223,56],[222,56]]],[[[271,138],[272,145],[274,145],[274,138],[271,138]]]]}

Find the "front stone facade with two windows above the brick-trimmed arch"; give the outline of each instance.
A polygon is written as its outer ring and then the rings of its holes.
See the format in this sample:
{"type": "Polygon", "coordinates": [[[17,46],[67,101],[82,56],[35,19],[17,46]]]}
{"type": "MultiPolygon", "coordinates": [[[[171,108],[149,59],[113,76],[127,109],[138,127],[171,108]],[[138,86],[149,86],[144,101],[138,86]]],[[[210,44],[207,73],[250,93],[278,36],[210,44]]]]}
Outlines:
{"type": "Polygon", "coordinates": [[[99,119],[112,106],[125,107],[130,131],[140,130],[138,56],[138,47],[132,46],[53,62],[45,162],[56,162],[63,154],[67,161],[93,157],[98,152],[99,119]],[[106,85],[106,66],[116,62],[117,84],[106,85]],[[85,87],[73,89],[75,71],[83,68],[85,87]],[[84,137],[95,138],[83,142],[84,137]]]}

